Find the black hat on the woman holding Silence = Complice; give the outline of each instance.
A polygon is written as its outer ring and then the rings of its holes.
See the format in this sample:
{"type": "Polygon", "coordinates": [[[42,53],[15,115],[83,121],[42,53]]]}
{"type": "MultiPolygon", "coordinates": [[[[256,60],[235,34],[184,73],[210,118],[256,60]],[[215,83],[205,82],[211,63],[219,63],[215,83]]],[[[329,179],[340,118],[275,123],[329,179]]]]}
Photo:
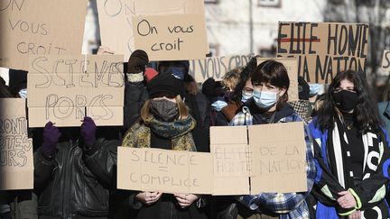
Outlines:
{"type": "Polygon", "coordinates": [[[184,83],[170,74],[159,74],[147,84],[149,96],[169,94],[184,96],[184,83]]]}

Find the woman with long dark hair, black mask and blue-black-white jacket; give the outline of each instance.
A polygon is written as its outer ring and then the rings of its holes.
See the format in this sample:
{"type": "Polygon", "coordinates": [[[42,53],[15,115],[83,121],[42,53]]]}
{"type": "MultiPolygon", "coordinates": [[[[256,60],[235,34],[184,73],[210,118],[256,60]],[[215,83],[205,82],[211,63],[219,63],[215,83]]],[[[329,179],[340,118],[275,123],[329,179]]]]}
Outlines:
{"type": "Polygon", "coordinates": [[[317,218],[388,218],[389,145],[366,78],[339,73],[310,124],[317,218]]]}

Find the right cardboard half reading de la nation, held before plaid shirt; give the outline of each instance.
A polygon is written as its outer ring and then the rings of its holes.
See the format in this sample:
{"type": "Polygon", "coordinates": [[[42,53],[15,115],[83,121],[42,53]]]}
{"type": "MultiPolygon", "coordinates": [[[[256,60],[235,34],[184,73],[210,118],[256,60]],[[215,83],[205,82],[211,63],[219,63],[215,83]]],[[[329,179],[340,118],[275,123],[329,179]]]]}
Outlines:
{"type": "Polygon", "coordinates": [[[303,123],[253,125],[249,136],[252,194],[307,191],[303,123]]]}

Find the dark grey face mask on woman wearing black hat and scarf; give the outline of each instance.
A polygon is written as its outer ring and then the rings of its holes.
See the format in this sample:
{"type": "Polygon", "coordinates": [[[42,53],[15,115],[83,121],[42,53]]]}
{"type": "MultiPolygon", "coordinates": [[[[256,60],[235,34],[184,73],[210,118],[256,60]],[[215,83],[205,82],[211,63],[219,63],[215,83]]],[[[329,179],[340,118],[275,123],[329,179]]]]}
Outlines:
{"type": "Polygon", "coordinates": [[[152,100],[151,109],[153,114],[161,118],[163,121],[173,121],[178,114],[178,106],[176,103],[169,100],[152,100]]]}

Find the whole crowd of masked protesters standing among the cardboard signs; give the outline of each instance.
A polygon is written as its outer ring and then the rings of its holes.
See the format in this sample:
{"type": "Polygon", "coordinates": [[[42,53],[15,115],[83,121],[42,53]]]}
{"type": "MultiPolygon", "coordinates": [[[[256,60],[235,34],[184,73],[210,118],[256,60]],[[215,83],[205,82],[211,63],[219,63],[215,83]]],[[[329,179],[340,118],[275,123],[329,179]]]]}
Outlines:
{"type": "MultiPolygon", "coordinates": [[[[34,188],[0,191],[0,218],[388,218],[388,99],[376,105],[364,73],[346,70],[321,95],[320,85],[297,78],[299,100],[289,102],[287,69],[274,59],[257,65],[256,58],[200,87],[189,61],[148,68],[148,55],[135,50],[125,63],[124,125],[97,127],[86,116],[80,127],[49,121],[30,129],[34,188]],[[118,146],[209,152],[210,126],[292,122],[304,124],[305,192],[209,196],[116,188],[118,146]]],[[[0,82],[0,97],[28,98],[26,81],[13,89],[0,82]]]]}

